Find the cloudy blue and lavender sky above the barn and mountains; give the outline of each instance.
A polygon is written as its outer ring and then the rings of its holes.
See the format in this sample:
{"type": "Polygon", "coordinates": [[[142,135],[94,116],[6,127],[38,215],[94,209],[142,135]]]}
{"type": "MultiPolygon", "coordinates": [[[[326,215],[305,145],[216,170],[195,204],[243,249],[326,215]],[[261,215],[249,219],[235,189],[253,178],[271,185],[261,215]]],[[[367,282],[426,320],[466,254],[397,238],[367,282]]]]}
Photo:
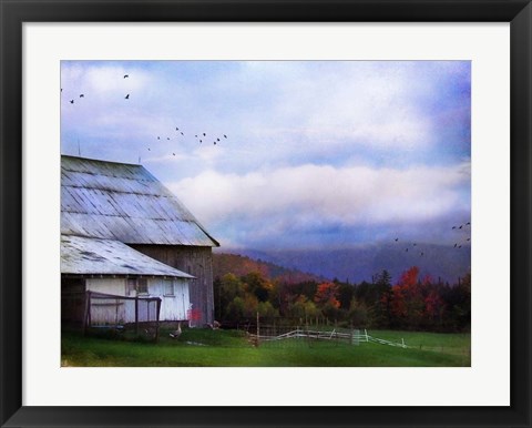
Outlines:
{"type": "Polygon", "coordinates": [[[470,221],[469,61],[63,61],[61,88],[63,154],[140,160],[225,248],[470,221]]]}

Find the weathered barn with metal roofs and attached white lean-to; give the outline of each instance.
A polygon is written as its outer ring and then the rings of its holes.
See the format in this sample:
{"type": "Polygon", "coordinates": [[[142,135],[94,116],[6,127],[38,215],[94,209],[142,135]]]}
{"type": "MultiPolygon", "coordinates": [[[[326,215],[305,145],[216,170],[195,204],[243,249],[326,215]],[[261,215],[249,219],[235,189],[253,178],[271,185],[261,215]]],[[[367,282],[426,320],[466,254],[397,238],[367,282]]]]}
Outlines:
{"type": "MultiPolygon", "coordinates": [[[[218,245],[142,165],[61,156],[63,293],[156,296],[162,320],[213,323],[218,245]]],[[[98,316],[119,316],[102,302],[98,316]]]]}

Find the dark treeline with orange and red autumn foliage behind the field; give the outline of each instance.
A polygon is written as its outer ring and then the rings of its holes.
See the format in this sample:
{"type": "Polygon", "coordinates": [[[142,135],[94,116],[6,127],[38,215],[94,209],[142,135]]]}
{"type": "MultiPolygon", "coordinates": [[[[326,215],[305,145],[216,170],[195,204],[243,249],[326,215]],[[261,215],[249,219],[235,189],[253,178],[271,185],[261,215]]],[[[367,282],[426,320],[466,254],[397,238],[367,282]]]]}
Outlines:
{"type": "Polygon", "coordinates": [[[262,317],[326,318],[355,328],[466,332],[471,326],[471,275],[458,284],[406,271],[396,284],[387,271],[360,284],[269,279],[260,272],[225,274],[214,283],[222,322],[262,317]]]}

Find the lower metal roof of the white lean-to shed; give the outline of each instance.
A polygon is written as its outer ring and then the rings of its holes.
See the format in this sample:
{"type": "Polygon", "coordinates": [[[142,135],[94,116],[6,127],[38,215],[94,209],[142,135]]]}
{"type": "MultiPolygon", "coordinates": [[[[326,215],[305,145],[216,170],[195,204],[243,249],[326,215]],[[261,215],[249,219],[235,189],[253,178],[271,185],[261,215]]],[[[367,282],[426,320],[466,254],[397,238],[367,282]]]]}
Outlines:
{"type": "Polygon", "coordinates": [[[61,235],[61,273],[194,278],[112,240],[61,235]]]}

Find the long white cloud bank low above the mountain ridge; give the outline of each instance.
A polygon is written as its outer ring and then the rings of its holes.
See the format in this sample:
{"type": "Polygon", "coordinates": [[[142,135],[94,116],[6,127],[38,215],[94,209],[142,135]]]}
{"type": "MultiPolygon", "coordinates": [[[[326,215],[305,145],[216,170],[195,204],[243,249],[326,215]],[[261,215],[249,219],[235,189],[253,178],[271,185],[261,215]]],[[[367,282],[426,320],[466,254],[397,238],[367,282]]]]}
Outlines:
{"type": "Polygon", "coordinates": [[[301,165],[244,175],[204,172],[171,184],[205,223],[255,222],[277,231],[298,224],[412,224],[469,210],[467,165],[410,170],[301,165]],[[274,222],[275,220],[275,222],[274,222]],[[275,224],[273,224],[275,223],[275,224]]]}

